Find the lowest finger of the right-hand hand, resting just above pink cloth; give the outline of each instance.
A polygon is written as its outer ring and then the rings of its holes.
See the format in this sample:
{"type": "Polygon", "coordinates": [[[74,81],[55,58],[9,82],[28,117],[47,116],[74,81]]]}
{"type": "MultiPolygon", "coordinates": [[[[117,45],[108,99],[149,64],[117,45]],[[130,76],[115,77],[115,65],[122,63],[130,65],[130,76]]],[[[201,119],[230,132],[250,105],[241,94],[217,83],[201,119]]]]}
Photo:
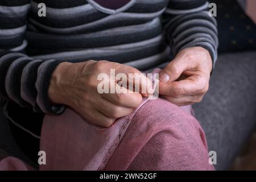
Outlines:
{"type": "Polygon", "coordinates": [[[168,97],[168,96],[161,96],[161,97],[177,106],[192,105],[192,104],[199,103],[203,100],[203,96],[184,96],[181,98],[168,97]]]}

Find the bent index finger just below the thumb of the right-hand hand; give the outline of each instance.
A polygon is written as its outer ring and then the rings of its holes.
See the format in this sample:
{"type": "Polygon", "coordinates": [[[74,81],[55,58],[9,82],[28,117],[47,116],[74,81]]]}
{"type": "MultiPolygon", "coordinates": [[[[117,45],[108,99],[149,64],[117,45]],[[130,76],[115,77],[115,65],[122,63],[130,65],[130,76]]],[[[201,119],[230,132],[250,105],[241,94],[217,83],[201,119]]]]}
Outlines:
{"type": "Polygon", "coordinates": [[[159,93],[171,97],[183,97],[185,95],[205,94],[209,87],[209,80],[201,75],[193,75],[185,80],[174,82],[160,82],[159,93]]]}

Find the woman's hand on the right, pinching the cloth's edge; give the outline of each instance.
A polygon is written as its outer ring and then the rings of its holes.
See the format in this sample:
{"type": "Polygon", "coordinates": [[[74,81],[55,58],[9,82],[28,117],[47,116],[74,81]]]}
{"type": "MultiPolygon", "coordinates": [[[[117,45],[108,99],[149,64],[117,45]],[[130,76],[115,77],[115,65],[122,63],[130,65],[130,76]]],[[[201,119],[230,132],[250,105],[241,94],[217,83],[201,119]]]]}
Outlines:
{"type": "Polygon", "coordinates": [[[200,102],[208,91],[211,71],[207,49],[183,49],[160,73],[159,94],[178,106],[200,102]]]}

